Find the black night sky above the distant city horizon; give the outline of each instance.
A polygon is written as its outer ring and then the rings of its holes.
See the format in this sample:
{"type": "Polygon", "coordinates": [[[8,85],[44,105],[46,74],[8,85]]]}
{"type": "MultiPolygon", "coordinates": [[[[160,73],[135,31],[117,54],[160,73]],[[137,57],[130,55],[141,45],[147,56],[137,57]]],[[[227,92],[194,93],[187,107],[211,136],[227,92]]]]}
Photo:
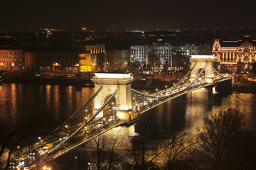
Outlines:
{"type": "Polygon", "coordinates": [[[1,28],[169,30],[256,25],[247,0],[4,0],[1,28]]]}

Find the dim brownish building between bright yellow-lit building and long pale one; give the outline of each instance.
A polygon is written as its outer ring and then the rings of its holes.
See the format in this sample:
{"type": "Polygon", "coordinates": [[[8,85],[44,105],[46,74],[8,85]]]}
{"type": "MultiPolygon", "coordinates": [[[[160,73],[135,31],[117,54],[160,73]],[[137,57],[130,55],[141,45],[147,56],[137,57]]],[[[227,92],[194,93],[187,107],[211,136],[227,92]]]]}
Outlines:
{"type": "Polygon", "coordinates": [[[127,69],[129,64],[129,55],[129,50],[107,50],[105,69],[127,69]]]}

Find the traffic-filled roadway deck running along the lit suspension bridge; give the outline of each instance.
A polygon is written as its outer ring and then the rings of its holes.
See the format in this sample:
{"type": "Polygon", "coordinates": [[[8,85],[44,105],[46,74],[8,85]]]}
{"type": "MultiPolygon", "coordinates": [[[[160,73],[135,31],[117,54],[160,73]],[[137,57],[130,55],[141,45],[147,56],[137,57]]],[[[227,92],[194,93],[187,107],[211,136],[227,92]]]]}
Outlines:
{"type": "MultiPolygon", "coordinates": [[[[231,79],[231,78],[230,77],[219,78],[218,81],[225,81],[227,79],[231,79]]],[[[61,131],[61,132],[58,132],[58,134],[55,135],[55,137],[51,140],[40,140],[35,144],[30,145],[29,147],[23,148],[21,152],[16,153],[19,155],[19,156],[17,155],[18,157],[16,157],[14,154],[12,158],[17,160],[17,158],[20,159],[19,157],[21,155],[23,155],[22,157],[24,157],[25,155],[26,158],[23,159],[23,161],[30,160],[29,156],[31,155],[31,152],[33,150],[37,150],[39,155],[47,155],[48,159],[55,159],[57,157],[60,157],[62,154],[65,154],[66,152],[70,151],[71,149],[78,147],[79,145],[82,145],[85,142],[92,140],[95,137],[109,130],[112,130],[113,128],[137,121],[139,119],[140,114],[146,111],[149,111],[151,108],[159,106],[162,103],[165,103],[166,101],[170,101],[171,99],[174,99],[183,94],[187,94],[191,91],[195,91],[197,89],[201,89],[203,87],[211,86],[211,85],[213,84],[208,84],[206,83],[206,81],[199,81],[194,84],[191,84],[189,87],[188,87],[188,84],[183,84],[180,86],[176,86],[175,88],[171,87],[169,89],[159,91],[151,95],[141,93],[141,95],[142,96],[144,95],[144,97],[141,100],[132,103],[133,111],[132,111],[131,117],[129,118],[129,121],[114,119],[114,120],[106,120],[106,122],[103,123],[102,120],[94,120],[90,124],[88,124],[84,129],[80,130],[78,134],[76,134],[73,138],[61,143],[61,145],[60,145],[60,141],[65,139],[65,137],[67,137],[70,134],[69,132],[61,131]],[[46,146],[46,144],[48,143],[53,143],[52,148],[56,146],[55,150],[49,154],[46,152],[46,149],[43,149],[43,147],[46,146]]],[[[84,123],[80,123],[80,124],[82,125],[84,123]]],[[[77,127],[79,127],[79,125],[77,125],[76,128],[77,127]]],[[[71,131],[74,131],[74,130],[71,130],[71,131]]]]}

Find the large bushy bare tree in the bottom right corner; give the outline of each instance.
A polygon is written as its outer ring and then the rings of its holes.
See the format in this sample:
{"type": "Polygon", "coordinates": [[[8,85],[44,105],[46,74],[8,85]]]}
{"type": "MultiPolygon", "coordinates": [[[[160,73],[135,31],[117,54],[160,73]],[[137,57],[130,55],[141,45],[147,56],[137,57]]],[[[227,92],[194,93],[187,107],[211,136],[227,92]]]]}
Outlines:
{"type": "Polygon", "coordinates": [[[234,109],[204,118],[203,130],[198,129],[201,142],[190,151],[191,169],[255,169],[255,135],[242,120],[234,109]]]}

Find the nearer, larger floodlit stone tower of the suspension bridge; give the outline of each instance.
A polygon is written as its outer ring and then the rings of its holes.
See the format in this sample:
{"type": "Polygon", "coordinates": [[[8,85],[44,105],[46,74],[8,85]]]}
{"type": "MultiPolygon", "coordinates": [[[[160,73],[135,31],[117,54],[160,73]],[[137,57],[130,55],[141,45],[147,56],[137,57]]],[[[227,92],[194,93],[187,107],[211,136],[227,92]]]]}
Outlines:
{"type": "Polygon", "coordinates": [[[95,91],[102,90],[95,97],[93,112],[97,111],[105,101],[119,87],[119,91],[114,95],[110,103],[97,115],[97,118],[119,118],[129,120],[129,114],[132,112],[131,85],[132,76],[130,73],[95,73],[92,79],[95,84],[95,91]]]}

